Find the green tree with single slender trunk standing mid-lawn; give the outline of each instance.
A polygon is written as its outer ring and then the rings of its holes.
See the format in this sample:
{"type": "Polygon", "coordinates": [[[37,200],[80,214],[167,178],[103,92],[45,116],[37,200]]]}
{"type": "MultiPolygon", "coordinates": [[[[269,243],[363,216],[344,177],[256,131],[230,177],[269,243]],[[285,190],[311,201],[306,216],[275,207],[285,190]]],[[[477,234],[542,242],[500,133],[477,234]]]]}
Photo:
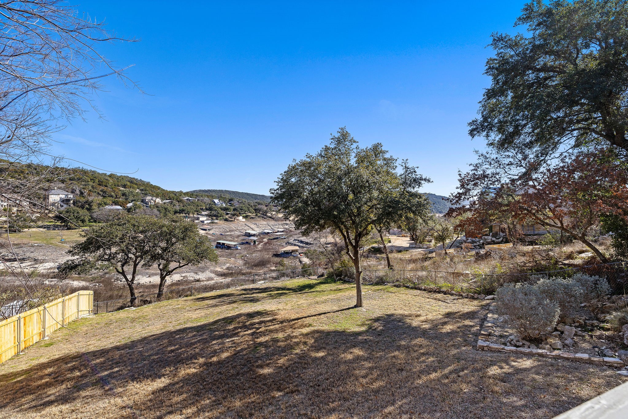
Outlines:
{"type": "Polygon", "coordinates": [[[355,307],[362,307],[360,242],[374,226],[386,224],[393,209],[416,202],[416,190],[428,182],[409,166],[401,174],[397,170],[397,160],[382,144],[360,148],[340,128],[316,155],[288,166],[271,190],[273,203],[303,234],[332,228],[342,236],[355,268],[355,307]]]}

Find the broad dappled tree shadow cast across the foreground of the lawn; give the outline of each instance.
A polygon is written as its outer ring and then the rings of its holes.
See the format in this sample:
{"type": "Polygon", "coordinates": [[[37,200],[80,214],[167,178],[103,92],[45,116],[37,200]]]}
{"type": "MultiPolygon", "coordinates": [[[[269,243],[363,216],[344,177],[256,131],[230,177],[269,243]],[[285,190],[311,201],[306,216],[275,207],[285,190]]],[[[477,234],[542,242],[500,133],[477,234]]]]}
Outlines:
{"type": "Polygon", "coordinates": [[[388,313],[357,331],[306,322],[349,321],[364,313],[355,308],[239,313],[3,374],[0,407],[13,417],[107,400],[99,417],[527,418],[586,399],[563,388],[598,367],[521,366],[473,351],[485,310],[466,308],[434,318],[388,313]]]}

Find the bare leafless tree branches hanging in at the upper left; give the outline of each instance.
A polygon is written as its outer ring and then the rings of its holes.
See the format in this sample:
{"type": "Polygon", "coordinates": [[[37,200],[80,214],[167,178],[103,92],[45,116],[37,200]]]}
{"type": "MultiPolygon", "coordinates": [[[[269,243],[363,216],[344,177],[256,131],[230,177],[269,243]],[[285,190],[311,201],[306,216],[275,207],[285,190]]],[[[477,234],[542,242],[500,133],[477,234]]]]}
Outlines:
{"type": "MultiPolygon", "coordinates": [[[[43,192],[59,180],[51,134],[88,109],[98,112],[91,97],[100,80],[115,76],[136,87],[128,67],[96,48],[122,40],[62,0],[0,2],[0,200],[7,216],[43,210],[43,192]],[[43,162],[49,168],[29,165],[43,162]]],[[[13,253],[10,236],[4,245],[13,253]]],[[[18,269],[14,276],[28,290],[28,275],[18,269]]]]}

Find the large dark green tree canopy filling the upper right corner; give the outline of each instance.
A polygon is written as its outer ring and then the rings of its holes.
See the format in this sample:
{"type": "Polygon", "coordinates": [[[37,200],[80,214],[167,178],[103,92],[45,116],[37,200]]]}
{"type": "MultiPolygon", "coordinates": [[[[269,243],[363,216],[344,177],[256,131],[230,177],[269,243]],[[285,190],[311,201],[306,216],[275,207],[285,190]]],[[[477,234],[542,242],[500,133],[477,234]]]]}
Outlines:
{"type": "Polygon", "coordinates": [[[492,84],[471,136],[541,159],[600,140],[628,150],[627,21],[625,1],[526,4],[516,24],[529,35],[492,36],[492,84]]]}

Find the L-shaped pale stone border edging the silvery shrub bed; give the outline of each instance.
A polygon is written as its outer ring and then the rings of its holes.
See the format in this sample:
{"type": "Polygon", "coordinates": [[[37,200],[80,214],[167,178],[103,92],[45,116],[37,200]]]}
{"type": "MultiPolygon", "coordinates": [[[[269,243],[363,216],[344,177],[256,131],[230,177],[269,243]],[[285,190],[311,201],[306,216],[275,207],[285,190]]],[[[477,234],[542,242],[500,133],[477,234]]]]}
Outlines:
{"type": "Polygon", "coordinates": [[[625,366],[624,361],[619,358],[591,356],[588,354],[573,354],[571,352],[564,351],[546,351],[545,349],[518,348],[514,346],[492,344],[490,342],[482,340],[489,338],[489,332],[493,327],[495,327],[496,321],[497,308],[495,308],[494,305],[491,304],[486,320],[484,320],[484,325],[482,325],[482,330],[480,330],[479,339],[477,341],[478,351],[511,352],[514,354],[538,355],[548,358],[571,359],[572,361],[587,362],[588,364],[604,365],[615,368],[622,368],[625,366]]]}

